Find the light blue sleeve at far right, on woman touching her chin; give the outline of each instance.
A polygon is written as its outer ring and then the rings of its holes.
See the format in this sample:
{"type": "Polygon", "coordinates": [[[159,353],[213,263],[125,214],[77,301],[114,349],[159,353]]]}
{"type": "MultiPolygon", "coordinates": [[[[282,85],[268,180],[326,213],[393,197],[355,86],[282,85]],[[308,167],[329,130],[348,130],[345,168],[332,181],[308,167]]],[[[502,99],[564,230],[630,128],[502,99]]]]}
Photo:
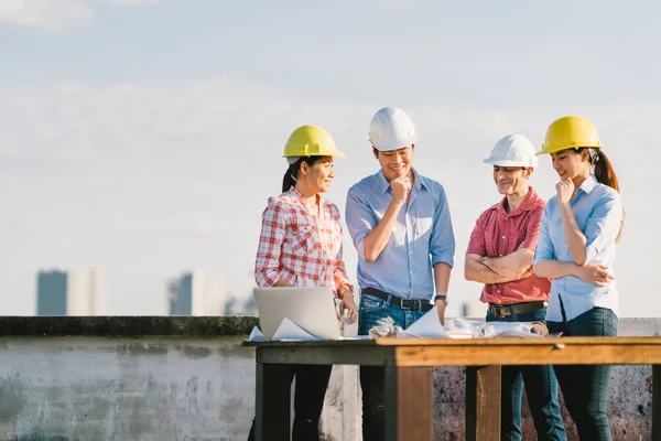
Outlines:
{"type": "Polygon", "coordinates": [[[585,261],[599,257],[615,243],[622,223],[622,204],[619,194],[611,192],[599,198],[585,226],[585,261]]]}

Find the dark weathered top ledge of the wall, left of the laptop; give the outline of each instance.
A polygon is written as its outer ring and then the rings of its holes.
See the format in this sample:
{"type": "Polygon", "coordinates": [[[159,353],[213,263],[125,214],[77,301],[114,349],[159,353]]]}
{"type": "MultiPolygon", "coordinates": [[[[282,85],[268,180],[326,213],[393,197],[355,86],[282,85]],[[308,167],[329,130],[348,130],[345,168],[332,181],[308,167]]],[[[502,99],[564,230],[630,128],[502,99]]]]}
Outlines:
{"type": "Polygon", "coordinates": [[[0,316],[0,336],[214,337],[249,335],[258,323],[256,316],[0,316]]]}

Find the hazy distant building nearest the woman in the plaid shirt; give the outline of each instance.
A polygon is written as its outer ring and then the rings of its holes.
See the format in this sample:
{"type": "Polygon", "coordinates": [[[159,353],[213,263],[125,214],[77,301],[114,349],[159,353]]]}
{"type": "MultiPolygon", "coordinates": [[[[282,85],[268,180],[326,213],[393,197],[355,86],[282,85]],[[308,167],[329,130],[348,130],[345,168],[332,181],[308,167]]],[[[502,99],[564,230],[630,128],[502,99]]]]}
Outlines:
{"type": "Polygon", "coordinates": [[[172,315],[223,315],[225,297],[221,280],[201,269],[167,282],[172,315]]]}

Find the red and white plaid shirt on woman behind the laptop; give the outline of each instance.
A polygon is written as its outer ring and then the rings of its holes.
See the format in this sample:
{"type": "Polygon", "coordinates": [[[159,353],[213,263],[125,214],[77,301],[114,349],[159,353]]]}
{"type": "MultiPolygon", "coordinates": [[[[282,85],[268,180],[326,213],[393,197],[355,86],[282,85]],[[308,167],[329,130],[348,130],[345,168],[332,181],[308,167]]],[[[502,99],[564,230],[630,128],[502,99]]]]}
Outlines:
{"type": "Polygon", "coordinates": [[[280,279],[294,287],[353,289],[342,260],[339,209],[317,195],[319,216],[296,187],[269,198],[254,261],[254,280],[272,287],[280,279]]]}

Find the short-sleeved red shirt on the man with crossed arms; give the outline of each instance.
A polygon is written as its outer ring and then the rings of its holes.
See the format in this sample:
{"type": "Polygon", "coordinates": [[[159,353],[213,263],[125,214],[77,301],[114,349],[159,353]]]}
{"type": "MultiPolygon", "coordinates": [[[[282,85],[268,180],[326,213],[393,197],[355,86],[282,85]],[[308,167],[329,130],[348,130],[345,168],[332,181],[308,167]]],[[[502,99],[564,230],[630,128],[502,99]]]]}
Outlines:
{"type": "MultiPolygon", "coordinates": [[[[501,257],[514,252],[519,247],[534,251],[544,201],[530,187],[528,196],[516,211],[505,211],[507,197],[485,211],[470,234],[467,255],[501,257]]],[[[551,280],[534,273],[525,279],[507,283],[485,284],[480,301],[496,304],[548,301],[551,280]]]]}

